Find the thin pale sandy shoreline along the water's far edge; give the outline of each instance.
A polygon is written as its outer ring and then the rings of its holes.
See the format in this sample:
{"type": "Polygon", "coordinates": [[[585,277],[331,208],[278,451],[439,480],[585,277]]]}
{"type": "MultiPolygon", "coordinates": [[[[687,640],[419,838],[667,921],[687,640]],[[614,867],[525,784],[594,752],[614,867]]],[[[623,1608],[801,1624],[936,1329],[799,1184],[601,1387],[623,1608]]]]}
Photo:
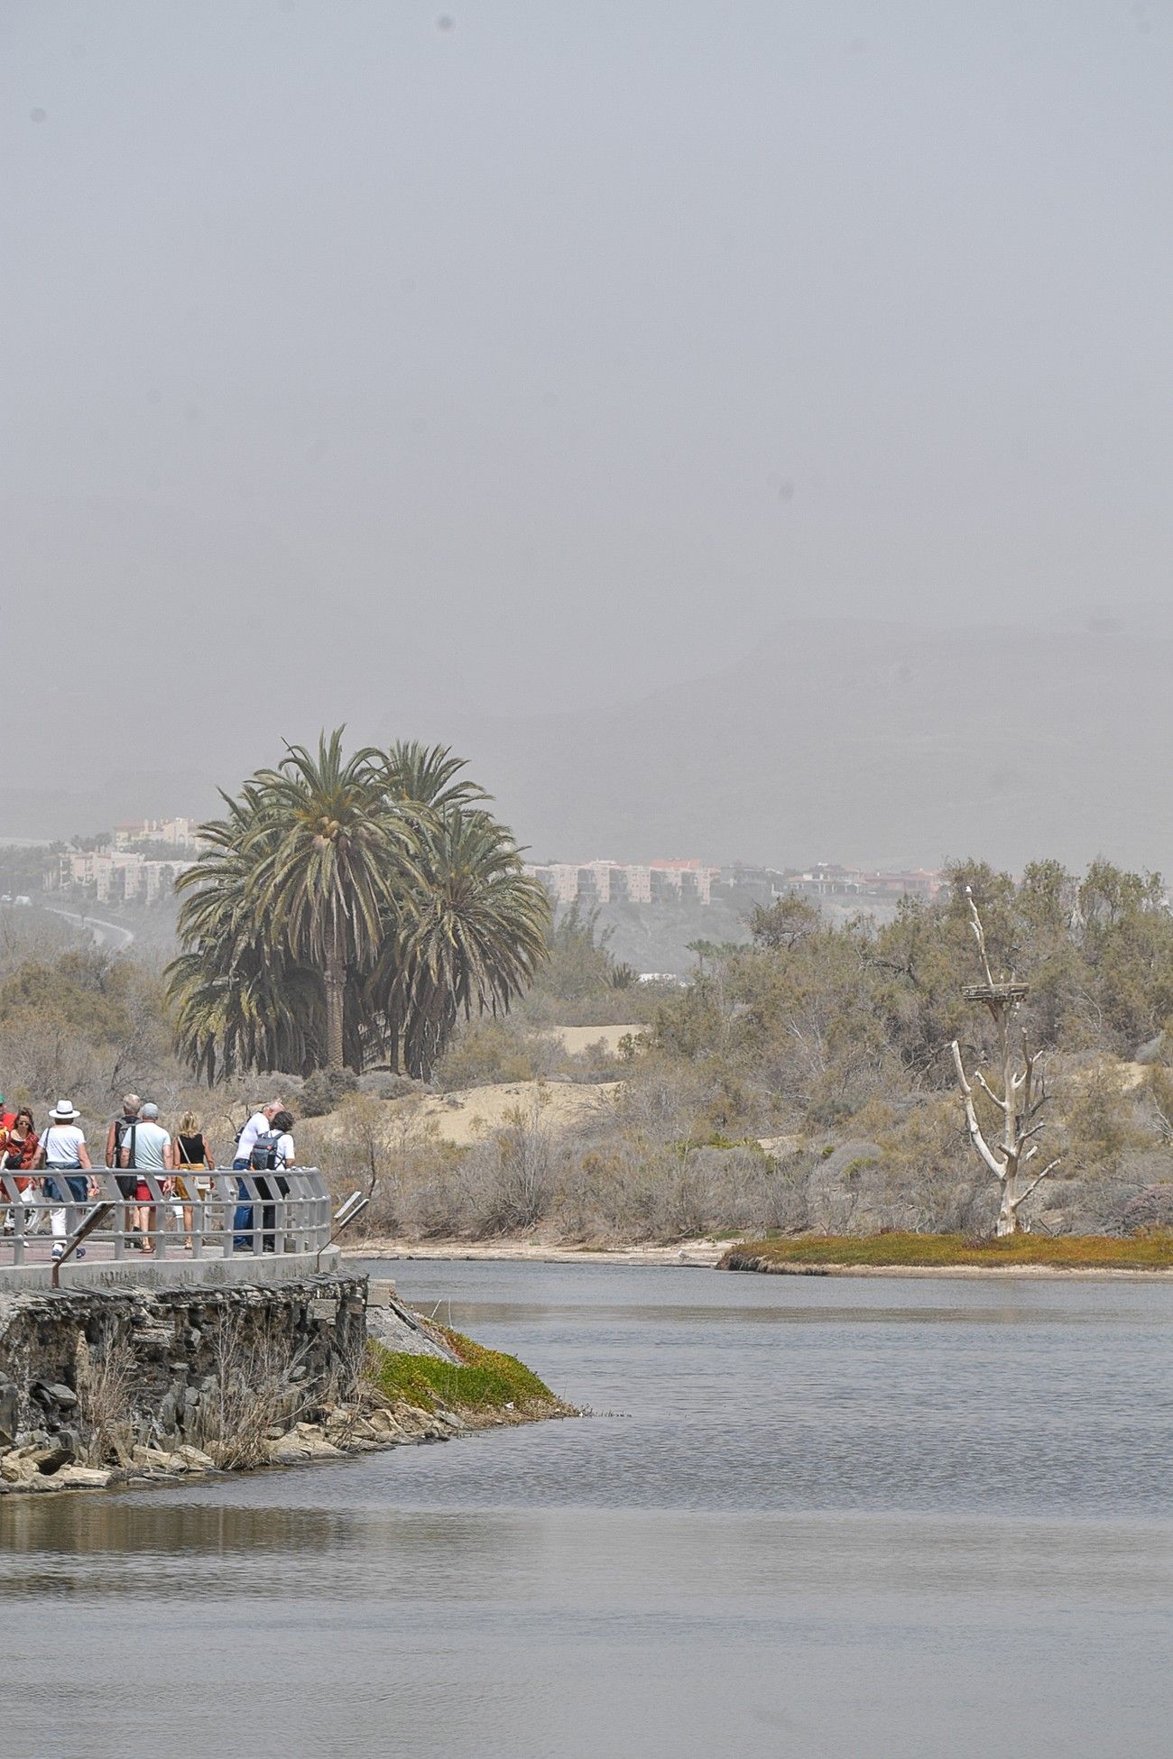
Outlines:
{"type": "MultiPolygon", "coordinates": [[[[718,1270],[730,1249],[728,1240],[682,1240],[675,1245],[542,1245],[533,1240],[371,1240],[362,1247],[345,1245],[343,1258],[383,1261],[485,1263],[485,1265],[630,1265],[633,1270],[718,1270]]],[[[1062,1265],[800,1265],[781,1263],[739,1266],[739,1275],[772,1277],[944,1277],[983,1279],[1029,1277],[1031,1281],[1075,1279],[1094,1282],[1168,1282],[1173,1270],[1124,1270],[1062,1265]]]]}

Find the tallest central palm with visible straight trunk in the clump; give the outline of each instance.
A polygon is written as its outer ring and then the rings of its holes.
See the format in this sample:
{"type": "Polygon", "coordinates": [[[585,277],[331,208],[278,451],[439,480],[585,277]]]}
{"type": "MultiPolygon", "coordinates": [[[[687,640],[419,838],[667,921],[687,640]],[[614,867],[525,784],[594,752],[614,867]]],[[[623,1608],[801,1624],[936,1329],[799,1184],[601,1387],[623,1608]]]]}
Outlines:
{"type": "Polygon", "coordinates": [[[322,974],[331,1069],[345,1061],[350,971],[378,957],[397,887],[419,880],[417,832],[387,799],[382,755],[368,746],[343,758],[343,732],[320,734],[317,756],[287,746],[276,769],[257,772],[262,853],[250,876],[251,908],[267,923],[269,945],[322,974]]]}

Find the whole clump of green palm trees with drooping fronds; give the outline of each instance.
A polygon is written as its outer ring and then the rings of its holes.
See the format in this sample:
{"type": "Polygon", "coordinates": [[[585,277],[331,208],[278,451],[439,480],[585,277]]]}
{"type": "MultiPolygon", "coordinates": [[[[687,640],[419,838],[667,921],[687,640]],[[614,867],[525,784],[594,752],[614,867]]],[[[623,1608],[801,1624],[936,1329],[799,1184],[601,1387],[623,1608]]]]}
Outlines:
{"type": "Polygon", "coordinates": [[[447,746],[287,746],[178,881],[176,1045],[244,1068],[431,1077],[461,1013],[508,1010],[547,957],[549,901],[447,746]]]}

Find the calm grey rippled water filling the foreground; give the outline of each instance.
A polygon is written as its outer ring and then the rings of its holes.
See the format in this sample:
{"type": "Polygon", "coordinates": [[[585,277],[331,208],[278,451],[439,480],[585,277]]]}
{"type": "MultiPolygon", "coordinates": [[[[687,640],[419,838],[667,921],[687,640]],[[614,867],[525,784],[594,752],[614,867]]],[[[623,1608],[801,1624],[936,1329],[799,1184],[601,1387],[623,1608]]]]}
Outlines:
{"type": "Polygon", "coordinates": [[[1173,1747],[1173,1289],[390,1266],[587,1421],[0,1502],[0,1752],[1173,1747]]]}

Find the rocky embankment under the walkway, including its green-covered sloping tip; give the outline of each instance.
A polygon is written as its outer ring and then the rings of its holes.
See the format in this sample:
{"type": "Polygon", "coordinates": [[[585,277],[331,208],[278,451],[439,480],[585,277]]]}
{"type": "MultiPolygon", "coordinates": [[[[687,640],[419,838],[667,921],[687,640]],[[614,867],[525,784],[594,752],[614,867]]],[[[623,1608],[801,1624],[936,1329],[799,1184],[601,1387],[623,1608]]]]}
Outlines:
{"type": "Polygon", "coordinates": [[[341,1460],[563,1414],[521,1363],[353,1274],[0,1302],[0,1495],[341,1460]]]}

